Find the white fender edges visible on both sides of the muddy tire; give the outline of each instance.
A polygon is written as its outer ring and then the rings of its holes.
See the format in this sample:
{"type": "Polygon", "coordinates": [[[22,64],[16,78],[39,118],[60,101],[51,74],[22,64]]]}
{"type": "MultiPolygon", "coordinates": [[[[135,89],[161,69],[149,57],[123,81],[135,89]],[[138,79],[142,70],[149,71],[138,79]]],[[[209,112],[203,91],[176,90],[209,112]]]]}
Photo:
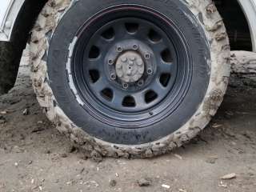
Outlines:
{"type": "MultiPolygon", "coordinates": [[[[9,42],[14,23],[25,0],[4,0],[0,2],[0,41],[9,42]]],[[[250,36],[256,52],[256,0],[238,0],[250,27],[250,36]]]]}

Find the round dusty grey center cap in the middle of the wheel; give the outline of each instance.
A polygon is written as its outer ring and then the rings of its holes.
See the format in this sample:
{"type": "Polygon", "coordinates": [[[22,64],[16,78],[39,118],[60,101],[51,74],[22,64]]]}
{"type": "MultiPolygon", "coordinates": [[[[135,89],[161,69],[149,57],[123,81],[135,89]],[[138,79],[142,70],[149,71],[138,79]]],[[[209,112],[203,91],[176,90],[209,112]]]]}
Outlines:
{"type": "Polygon", "coordinates": [[[140,54],[128,50],[118,57],[115,70],[122,82],[137,82],[142,78],[145,65],[140,54]]]}

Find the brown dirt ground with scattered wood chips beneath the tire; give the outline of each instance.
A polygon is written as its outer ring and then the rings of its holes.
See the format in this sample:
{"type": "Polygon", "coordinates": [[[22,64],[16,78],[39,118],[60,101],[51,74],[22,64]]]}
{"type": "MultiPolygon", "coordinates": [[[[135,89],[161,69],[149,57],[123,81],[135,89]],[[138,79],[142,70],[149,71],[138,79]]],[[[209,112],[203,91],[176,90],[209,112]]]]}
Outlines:
{"type": "Polygon", "coordinates": [[[94,162],[42,114],[21,66],[14,89],[0,97],[0,192],[255,192],[255,85],[232,78],[210,125],[172,154],[94,162]]]}

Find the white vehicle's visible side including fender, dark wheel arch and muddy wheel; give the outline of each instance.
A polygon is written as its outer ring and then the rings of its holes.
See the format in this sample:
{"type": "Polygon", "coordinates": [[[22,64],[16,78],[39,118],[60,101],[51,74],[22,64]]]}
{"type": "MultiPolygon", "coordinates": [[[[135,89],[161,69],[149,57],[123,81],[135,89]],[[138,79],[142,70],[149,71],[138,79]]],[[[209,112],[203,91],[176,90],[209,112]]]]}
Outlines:
{"type": "MultiPolygon", "coordinates": [[[[230,46],[256,51],[256,0],[100,2],[0,2],[0,59],[21,58],[29,39],[38,102],[89,156],[150,158],[182,146],[222,102],[230,46]]],[[[4,91],[18,71],[6,61],[4,91]]]]}

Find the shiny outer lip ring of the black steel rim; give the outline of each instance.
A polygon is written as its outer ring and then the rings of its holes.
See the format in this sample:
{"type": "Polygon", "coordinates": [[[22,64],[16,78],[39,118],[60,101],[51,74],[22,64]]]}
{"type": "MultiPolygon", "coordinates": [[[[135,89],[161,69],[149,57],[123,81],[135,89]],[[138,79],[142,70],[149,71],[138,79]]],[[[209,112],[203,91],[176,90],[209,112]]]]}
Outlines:
{"type": "MultiPolygon", "coordinates": [[[[182,49],[184,49],[184,51],[186,52],[185,58],[186,58],[186,64],[187,64],[187,68],[185,69],[185,71],[183,71],[184,73],[187,73],[187,77],[186,79],[182,80],[182,85],[183,85],[183,89],[182,87],[175,87],[175,89],[177,90],[177,93],[174,93],[174,98],[171,99],[171,101],[169,101],[168,98],[170,96],[170,93],[167,94],[166,98],[163,99],[162,102],[159,102],[158,104],[156,104],[151,110],[146,110],[144,111],[147,115],[146,118],[138,118],[138,113],[134,113],[133,115],[129,115],[129,118],[124,119],[124,118],[116,118],[115,116],[110,116],[108,114],[104,114],[102,113],[102,111],[99,111],[94,104],[97,104],[97,102],[92,103],[91,101],[94,101],[94,98],[91,97],[90,94],[87,95],[86,98],[79,98],[79,96],[81,95],[81,93],[79,93],[80,90],[76,90],[76,79],[73,77],[71,77],[72,79],[70,79],[74,84],[73,87],[70,87],[71,90],[74,90],[75,93],[77,94],[77,100],[79,102],[79,104],[89,113],[91,114],[94,118],[97,118],[99,121],[109,124],[110,126],[116,126],[116,127],[121,127],[121,128],[131,128],[134,129],[134,127],[138,127],[138,128],[142,128],[145,126],[151,126],[157,122],[160,122],[162,119],[166,118],[167,116],[169,116],[171,113],[174,112],[175,109],[177,109],[177,107],[182,103],[182,99],[185,97],[186,92],[189,90],[190,87],[190,82],[192,79],[192,56],[190,55],[190,51],[189,51],[189,46],[188,43],[186,42],[186,38],[184,38],[184,35],[182,34],[182,31],[178,29],[178,26],[176,26],[174,24],[174,22],[172,22],[169,18],[166,18],[165,15],[159,13],[157,10],[154,10],[150,7],[147,6],[141,6],[141,5],[118,5],[118,6],[112,6],[112,7],[108,7],[105,10],[101,10],[99,11],[97,14],[95,14],[92,18],[90,18],[89,20],[87,20],[84,25],[78,30],[78,33],[75,35],[74,37],[74,41],[72,43],[74,43],[74,48],[71,49],[71,55],[72,55],[72,60],[74,61],[73,57],[74,55],[76,55],[77,53],[76,51],[76,47],[78,45],[79,42],[79,38],[81,38],[83,32],[87,29],[87,27],[90,26],[91,23],[93,23],[94,21],[97,21],[98,18],[103,17],[106,14],[113,14],[112,12],[114,11],[122,11],[122,10],[139,10],[139,11],[144,11],[147,14],[153,14],[154,16],[156,16],[159,20],[162,20],[163,22],[165,22],[168,26],[172,27],[172,30],[174,30],[176,32],[175,35],[178,35],[179,40],[181,40],[182,43],[182,49]],[[74,53],[75,54],[74,54],[74,53]],[[73,89],[72,89],[73,88],[73,89]],[[181,97],[178,97],[178,94],[181,94],[181,97]],[[174,100],[178,100],[178,101],[174,101],[174,100]],[[159,110],[158,106],[166,106],[163,110],[157,111],[159,110]],[[171,107],[170,107],[171,106],[171,107]],[[154,112],[158,112],[157,114],[153,113],[152,111],[154,110],[154,112]]],[[[151,22],[151,21],[149,21],[151,22]]],[[[107,22],[106,22],[107,23],[107,22]]],[[[106,24],[105,23],[105,24],[106,24]]],[[[152,22],[154,23],[154,22],[152,22]]],[[[155,24],[155,23],[154,23],[155,24]]],[[[160,27],[161,28],[161,27],[160,27]]],[[[98,28],[99,29],[99,28],[98,28]]],[[[97,30],[98,30],[97,29],[97,30]]],[[[166,30],[163,30],[164,32],[166,32],[166,30]]],[[[170,39],[172,40],[172,39],[170,39]]],[[[72,44],[71,43],[71,44],[72,44]]],[[[179,59],[179,58],[178,58],[179,59]]],[[[72,63],[71,65],[71,69],[72,69],[72,63]]],[[[174,86],[177,86],[177,83],[174,83],[174,86]]],[[[78,88],[79,89],[79,88],[78,88]]],[[[173,92],[173,90],[175,90],[174,88],[170,91],[173,92]]],[[[90,90],[88,90],[90,93],[90,90]]],[[[98,100],[100,102],[100,100],[98,100]]],[[[115,114],[118,114],[117,111],[114,111],[115,114]]],[[[128,116],[127,116],[128,117],[128,116]]]]}

